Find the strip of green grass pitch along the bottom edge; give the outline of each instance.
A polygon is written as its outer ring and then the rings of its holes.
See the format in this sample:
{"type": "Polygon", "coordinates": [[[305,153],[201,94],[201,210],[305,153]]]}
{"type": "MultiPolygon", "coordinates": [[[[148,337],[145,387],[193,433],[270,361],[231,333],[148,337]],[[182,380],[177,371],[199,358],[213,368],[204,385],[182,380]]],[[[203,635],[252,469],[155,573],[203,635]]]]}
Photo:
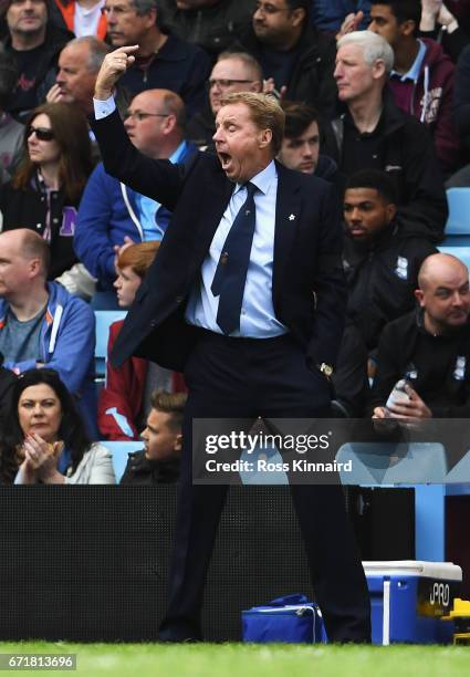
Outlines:
{"type": "MultiPolygon", "coordinates": [[[[15,674],[98,677],[452,677],[470,675],[469,647],[243,644],[0,643],[1,654],[76,654],[76,671],[15,674]]],[[[2,673],[8,674],[8,673],[2,673]]],[[[11,673],[10,673],[11,674],[11,673]]]]}

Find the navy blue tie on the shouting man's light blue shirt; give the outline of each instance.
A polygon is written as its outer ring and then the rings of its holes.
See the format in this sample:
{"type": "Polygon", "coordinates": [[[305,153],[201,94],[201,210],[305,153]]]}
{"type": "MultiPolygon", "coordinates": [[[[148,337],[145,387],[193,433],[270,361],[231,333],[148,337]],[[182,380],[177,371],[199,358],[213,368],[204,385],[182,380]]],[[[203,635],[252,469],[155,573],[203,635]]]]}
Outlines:
{"type": "Polygon", "coordinates": [[[229,230],[210,287],[215,296],[220,294],[217,324],[224,334],[231,334],[240,326],[241,303],[257,222],[253,195],[258,188],[250,181],[244,187],[248,197],[229,230]]]}

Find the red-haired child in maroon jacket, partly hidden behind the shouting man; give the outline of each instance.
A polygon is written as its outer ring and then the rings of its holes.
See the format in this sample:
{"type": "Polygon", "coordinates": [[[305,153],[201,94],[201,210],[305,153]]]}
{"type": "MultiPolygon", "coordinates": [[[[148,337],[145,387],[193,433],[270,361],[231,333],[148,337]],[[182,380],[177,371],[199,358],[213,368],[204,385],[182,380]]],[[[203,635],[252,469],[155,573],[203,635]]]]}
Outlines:
{"type": "MultiPolygon", "coordinates": [[[[129,308],[138,288],[158,251],[159,242],[142,242],[123,247],[117,257],[117,290],[119,308],[129,308]]],[[[109,327],[107,353],[124,324],[113,322],[109,327]]],[[[121,367],[106,364],[106,385],[100,393],[98,428],[102,436],[113,440],[138,439],[155,388],[169,389],[171,372],[153,362],[130,357],[121,367]]]]}

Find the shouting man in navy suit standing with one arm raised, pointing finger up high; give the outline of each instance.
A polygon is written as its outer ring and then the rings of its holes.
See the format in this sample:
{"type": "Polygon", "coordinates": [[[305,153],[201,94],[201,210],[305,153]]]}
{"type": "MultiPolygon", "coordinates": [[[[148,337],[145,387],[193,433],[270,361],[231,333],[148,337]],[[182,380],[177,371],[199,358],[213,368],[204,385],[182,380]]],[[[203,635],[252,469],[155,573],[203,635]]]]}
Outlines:
{"type": "MultiPolygon", "coordinates": [[[[158,199],[173,219],[115,346],[184,369],[185,412],[169,605],[161,640],[200,639],[207,569],[227,486],[194,486],[194,418],[327,416],[346,304],[334,188],[274,160],[284,115],[271,96],[228,95],[217,156],[190,166],[142,156],[113,88],[136,48],[106,56],[94,131],[106,171],[158,199]],[[242,273],[242,274],[240,274],[242,273]]],[[[370,639],[364,571],[340,486],[293,486],[312,582],[330,640],[370,639]]]]}

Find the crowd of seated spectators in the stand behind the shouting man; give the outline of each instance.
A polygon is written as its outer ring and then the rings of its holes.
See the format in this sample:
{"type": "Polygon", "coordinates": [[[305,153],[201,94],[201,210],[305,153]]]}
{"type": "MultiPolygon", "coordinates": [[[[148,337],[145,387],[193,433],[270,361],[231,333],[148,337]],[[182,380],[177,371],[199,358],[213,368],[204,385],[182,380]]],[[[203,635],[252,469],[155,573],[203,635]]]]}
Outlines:
{"type": "Polygon", "coordinates": [[[467,416],[468,270],[437,247],[446,187],[470,188],[470,1],[7,0],[0,483],[114,483],[96,440],[140,433],[124,483],[177,476],[181,375],[133,357],[94,382],[94,310],[145,293],[171,229],[166,207],[105,171],[88,124],[122,45],[138,50],[116,104],[145,155],[187,170],[213,152],[221,97],[264,92],[285,114],[278,160],[335,184],[349,290],[335,415],[467,416]],[[399,378],[408,400],[388,410],[399,378]]]}

